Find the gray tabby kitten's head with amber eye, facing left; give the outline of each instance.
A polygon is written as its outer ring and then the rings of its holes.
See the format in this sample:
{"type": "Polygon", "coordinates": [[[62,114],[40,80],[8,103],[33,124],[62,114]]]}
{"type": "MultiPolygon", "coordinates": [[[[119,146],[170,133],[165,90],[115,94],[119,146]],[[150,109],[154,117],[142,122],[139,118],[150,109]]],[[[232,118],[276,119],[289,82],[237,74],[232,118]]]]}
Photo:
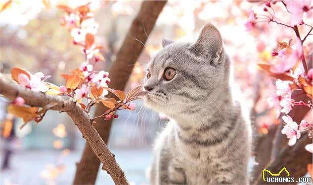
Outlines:
{"type": "Polygon", "coordinates": [[[147,107],[168,116],[184,114],[228,83],[222,36],[212,24],[202,28],[195,43],[163,40],[162,47],[147,65],[147,107]]]}

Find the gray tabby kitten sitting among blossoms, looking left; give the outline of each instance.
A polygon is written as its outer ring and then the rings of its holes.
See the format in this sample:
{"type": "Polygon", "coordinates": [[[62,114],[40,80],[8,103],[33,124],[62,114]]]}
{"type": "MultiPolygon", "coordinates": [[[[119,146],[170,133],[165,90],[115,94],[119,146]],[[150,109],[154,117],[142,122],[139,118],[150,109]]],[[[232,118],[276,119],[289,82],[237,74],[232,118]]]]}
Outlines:
{"type": "Polygon", "coordinates": [[[248,185],[251,127],[232,98],[220,32],[207,24],[194,44],[162,45],[145,78],[145,105],[171,118],[155,144],[152,185],[248,185]]]}

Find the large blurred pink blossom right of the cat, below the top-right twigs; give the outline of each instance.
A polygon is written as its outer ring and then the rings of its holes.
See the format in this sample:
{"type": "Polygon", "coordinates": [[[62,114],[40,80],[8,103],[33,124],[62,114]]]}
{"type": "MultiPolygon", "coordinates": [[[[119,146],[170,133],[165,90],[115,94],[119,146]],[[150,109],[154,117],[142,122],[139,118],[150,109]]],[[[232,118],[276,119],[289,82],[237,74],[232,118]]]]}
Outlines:
{"type": "Polygon", "coordinates": [[[293,68],[299,58],[302,56],[302,42],[300,39],[297,38],[295,48],[291,51],[290,54],[286,52],[286,48],[280,51],[280,59],[281,61],[277,64],[274,64],[270,71],[273,73],[284,73],[291,68],[293,68]]]}

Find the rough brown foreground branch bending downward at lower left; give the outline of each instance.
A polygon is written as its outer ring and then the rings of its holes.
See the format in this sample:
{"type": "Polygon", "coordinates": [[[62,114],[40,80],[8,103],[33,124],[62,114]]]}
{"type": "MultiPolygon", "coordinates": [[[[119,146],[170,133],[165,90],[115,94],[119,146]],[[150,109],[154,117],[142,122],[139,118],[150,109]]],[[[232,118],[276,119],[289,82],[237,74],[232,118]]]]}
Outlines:
{"type": "Polygon", "coordinates": [[[17,96],[25,100],[25,104],[35,107],[44,107],[48,104],[56,104],[52,110],[66,112],[82,133],[96,157],[103,163],[103,168],[112,177],[117,185],[128,185],[126,177],[120,166],[117,164],[114,155],[107,148],[97,130],[92,126],[87,115],[72,99],[64,96],[46,95],[41,92],[34,92],[20,87],[7,80],[0,74],[0,94],[9,100],[17,96]]]}

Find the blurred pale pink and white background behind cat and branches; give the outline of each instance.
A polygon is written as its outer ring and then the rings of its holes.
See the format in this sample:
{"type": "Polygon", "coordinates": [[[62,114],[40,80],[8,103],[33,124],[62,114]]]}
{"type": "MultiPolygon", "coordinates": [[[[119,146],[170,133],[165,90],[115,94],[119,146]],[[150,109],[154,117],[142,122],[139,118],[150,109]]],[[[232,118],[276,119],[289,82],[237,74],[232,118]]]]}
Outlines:
{"type": "MultiPolygon", "coordinates": [[[[73,45],[71,33],[60,25],[64,12],[56,5],[76,7],[88,1],[52,0],[49,6],[42,0],[16,0],[12,3],[10,8],[0,13],[0,72],[9,73],[12,67],[32,73],[42,71],[45,75],[52,75],[49,82],[63,85],[65,80],[60,74],[79,67],[83,55],[73,45]]],[[[1,0],[1,5],[4,2],[1,0]]],[[[91,3],[95,20],[99,23],[96,42],[104,46],[102,55],[106,59],[96,67],[109,71],[142,1],[91,0],[91,3]]],[[[160,49],[162,38],[193,42],[201,27],[211,22],[222,33],[226,50],[233,59],[235,84],[242,92],[238,97],[244,98],[243,103],[253,112],[255,132],[267,134],[268,127],[277,123],[276,110],[271,109],[266,101],[273,92],[273,81],[259,71],[257,63],[270,61],[277,42],[288,42],[295,35],[292,30],[273,23],[258,24],[247,32],[244,24],[252,6],[255,11],[262,12],[262,6],[240,0],[169,0],[135,64],[126,92],[142,83],[144,67],[160,49]]],[[[277,5],[275,8],[284,7],[277,5]]],[[[288,16],[286,11],[275,14],[278,19],[285,17],[288,20],[288,16]]],[[[312,25],[312,18],[309,19],[312,15],[306,16],[306,23],[312,25]]],[[[300,31],[308,30],[301,27],[300,31]]],[[[304,48],[306,54],[312,50],[312,39],[307,43],[304,48]]],[[[0,99],[2,125],[9,119],[5,102],[5,99],[0,99]]],[[[108,146],[127,179],[142,185],[148,184],[145,174],[152,162],[152,145],[166,119],[144,108],[141,101],[136,104],[134,112],[119,112],[108,146]]],[[[312,118],[308,120],[312,121],[312,118]]],[[[0,184],[71,184],[85,142],[71,119],[65,114],[48,111],[38,125],[30,123],[19,129],[21,124],[21,119],[13,119],[10,133],[0,138],[0,184]]],[[[107,185],[108,182],[113,184],[106,173],[99,171],[96,184],[107,185]]]]}

